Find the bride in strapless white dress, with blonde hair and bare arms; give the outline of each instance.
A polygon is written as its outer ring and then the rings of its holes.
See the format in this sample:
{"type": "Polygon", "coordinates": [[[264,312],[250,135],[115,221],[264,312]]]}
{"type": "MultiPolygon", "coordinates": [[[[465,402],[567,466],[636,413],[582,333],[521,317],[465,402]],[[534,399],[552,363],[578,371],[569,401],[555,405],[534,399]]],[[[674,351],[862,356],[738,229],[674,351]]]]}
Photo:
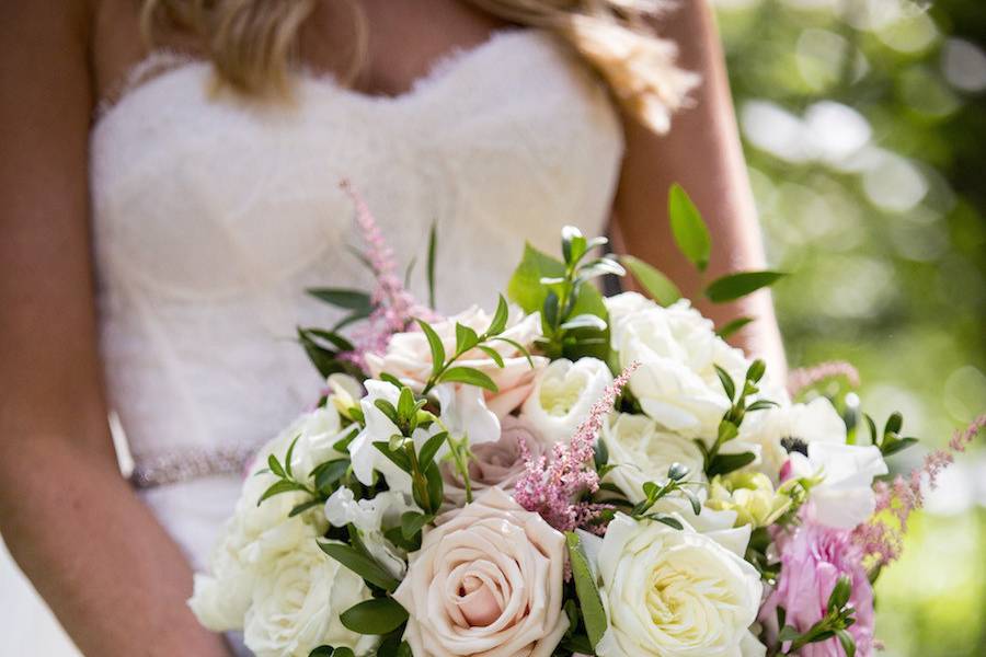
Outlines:
{"type": "MultiPolygon", "coordinates": [[[[695,290],[673,182],[712,275],[763,264],[710,10],[656,3],[2,4],[0,531],[84,654],[229,654],[186,607],[192,572],[243,460],[318,395],[290,338],[333,316],[303,289],[368,285],[341,178],[404,262],[438,222],[445,310],[492,302],[564,223],[695,290]]],[[[704,310],[756,315],[744,346],[781,361],[769,297],[704,310]]],[[[55,653],[13,590],[4,645],[55,653]]]]}

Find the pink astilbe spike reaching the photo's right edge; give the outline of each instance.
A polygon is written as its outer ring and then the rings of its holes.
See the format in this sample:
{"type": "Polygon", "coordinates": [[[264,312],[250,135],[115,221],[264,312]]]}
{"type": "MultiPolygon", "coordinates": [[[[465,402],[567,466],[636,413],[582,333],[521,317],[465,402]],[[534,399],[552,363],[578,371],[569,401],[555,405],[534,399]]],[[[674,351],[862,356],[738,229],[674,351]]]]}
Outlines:
{"type": "Polygon", "coordinates": [[[915,468],[908,477],[897,475],[891,484],[878,482],[873,486],[876,491],[876,512],[853,532],[853,539],[862,545],[871,567],[885,566],[899,558],[910,514],[925,506],[924,485],[933,491],[942,471],[955,461],[955,453],[964,452],[984,427],[986,414],[966,428],[956,430],[947,449],[928,452],[921,465],[915,468]]]}

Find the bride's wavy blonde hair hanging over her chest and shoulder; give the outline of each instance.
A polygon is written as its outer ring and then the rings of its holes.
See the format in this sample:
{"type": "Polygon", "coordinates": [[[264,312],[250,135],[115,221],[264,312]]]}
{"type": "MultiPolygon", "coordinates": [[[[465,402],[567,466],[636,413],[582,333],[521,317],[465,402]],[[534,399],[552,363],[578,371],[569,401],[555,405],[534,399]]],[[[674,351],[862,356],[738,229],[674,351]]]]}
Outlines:
{"type": "MultiPolygon", "coordinates": [[[[655,131],[687,103],[698,83],[680,70],[674,43],[658,38],[647,19],[666,0],[468,0],[513,23],[559,35],[607,82],[628,114],[655,131]]],[[[144,0],[142,25],[150,36],[169,23],[200,36],[218,78],[234,90],[263,96],[290,93],[298,33],[317,0],[144,0]]],[[[367,28],[353,13],[356,51],[344,82],[355,79],[364,59],[367,28]]]]}

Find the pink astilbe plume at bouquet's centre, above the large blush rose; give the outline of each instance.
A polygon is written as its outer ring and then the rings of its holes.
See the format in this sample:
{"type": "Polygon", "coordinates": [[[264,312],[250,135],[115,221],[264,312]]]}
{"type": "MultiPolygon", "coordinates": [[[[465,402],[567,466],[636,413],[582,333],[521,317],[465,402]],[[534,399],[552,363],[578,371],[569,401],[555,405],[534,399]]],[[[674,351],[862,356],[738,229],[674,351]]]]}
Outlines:
{"type": "Polygon", "coordinates": [[[616,399],[638,368],[631,364],[593,404],[588,417],[575,430],[567,443],[554,446],[552,458],[531,458],[521,442],[525,472],[514,485],[514,499],[528,511],[537,511],[553,528],[572,531],[576,527],[601,534],[605,526],[599,514],[612,507],[607,504],[581,502],[585,493],[599,489],[599,474],[593,465],[593,446],[603,428],[603,422],[612,411],[616,399]]]}

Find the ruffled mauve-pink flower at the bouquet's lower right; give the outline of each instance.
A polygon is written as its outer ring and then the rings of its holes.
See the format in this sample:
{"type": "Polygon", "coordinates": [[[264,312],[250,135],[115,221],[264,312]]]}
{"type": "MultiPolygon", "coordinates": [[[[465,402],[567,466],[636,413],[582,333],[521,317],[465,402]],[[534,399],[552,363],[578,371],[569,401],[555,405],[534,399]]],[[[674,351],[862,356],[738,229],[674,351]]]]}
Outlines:
{"type": "MultiPolygon", "coordinates": [[[[777,608],[787,612],[787,624],[805,632],[826,613],[828,597],[842,575],[852,580],[849,599],[856,609],[856,624],[849,633],[856,639],[856,654],[870,657],[873,654],[873,588],[862,565],[863,552],[852,540],[850,530],[834,529],[811,520],[803,512],[804,523],[791,532],[777,535],[777,549],[781,558],[781,574],[777,588],[760,609],[759,621],[767,629],[768,638],[776,641],[777,608]]],[[[842,648],[837,638],[806,645],[804,657],[841,657],[842,648]]]]}

